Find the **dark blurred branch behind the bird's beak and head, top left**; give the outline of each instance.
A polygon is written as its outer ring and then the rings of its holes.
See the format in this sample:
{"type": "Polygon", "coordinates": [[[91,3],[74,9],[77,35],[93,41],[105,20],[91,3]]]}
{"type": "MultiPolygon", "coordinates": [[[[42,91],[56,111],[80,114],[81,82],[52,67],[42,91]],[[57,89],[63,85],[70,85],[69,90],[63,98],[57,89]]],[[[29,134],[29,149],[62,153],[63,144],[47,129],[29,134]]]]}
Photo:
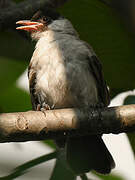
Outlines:
{"type": "Polygon", "coordinates": [[[15,22],[20,19],[31,18],[39,9],[45,10],[47,7],[57,8],[68,0],[25,0],[14,6],[1,9],[0,30],[15,28],[15,22]]]}

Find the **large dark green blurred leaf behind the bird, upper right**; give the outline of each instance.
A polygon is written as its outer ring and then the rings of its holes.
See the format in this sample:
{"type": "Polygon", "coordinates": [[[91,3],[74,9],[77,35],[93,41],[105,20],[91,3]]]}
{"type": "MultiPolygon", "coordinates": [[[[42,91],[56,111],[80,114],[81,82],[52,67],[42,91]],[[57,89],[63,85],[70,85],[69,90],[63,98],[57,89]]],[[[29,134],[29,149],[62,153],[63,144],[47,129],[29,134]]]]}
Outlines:
{"type": "Polygon", "coordinates": [[[93,46],[109,87],[134,88],[134,39],[116,12],[99,0],[69,1],[60,11],[93,46]]]}

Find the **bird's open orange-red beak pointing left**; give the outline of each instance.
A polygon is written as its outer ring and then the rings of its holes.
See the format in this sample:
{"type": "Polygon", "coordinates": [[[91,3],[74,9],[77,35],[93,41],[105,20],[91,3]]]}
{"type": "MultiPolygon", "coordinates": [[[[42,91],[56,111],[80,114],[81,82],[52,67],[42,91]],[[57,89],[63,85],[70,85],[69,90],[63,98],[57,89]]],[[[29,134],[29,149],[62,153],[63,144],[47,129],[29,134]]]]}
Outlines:
{"type": "Polygon", "coordinates": [[[38,31],[43,28],[43,23],[36,22],[36,21],[31,21],[31,20],[21,20],[17,21],[16,24],[21,24],[23,26],[19,26],[16,29],[21,29],[25,31],[38,31]]]}

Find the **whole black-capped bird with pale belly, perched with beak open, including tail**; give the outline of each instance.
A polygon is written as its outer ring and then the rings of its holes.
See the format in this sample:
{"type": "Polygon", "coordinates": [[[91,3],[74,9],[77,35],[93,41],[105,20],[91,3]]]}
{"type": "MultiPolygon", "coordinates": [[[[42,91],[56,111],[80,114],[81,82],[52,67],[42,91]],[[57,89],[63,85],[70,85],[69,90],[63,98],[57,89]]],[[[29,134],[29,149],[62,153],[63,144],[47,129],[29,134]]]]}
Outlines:
{"type": "MultiPolygon", "coordinates": [[[[33,110],[109,105],[101,62],[67,18],[48,8],[16,24],[16,29],[29,32],[36,41],[28,67],[33,110]]],[[[64,147],[67,164],[77,175],[91,170],[108,174],[115,167],[102,134],[67,137],[58,145],[64,147]]]]}

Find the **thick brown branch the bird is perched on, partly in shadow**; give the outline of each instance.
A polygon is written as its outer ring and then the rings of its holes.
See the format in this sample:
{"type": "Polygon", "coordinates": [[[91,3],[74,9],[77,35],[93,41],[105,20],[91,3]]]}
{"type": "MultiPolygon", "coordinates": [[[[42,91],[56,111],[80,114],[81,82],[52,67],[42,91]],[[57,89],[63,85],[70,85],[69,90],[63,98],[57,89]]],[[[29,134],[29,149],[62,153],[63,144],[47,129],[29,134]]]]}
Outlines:
{"type": "Polygon", "coordinates": [[[135,130],[135,105],[105,109],[58,109],[0,114],[0,142],[58,139],[63,136],[135,130]]]}

